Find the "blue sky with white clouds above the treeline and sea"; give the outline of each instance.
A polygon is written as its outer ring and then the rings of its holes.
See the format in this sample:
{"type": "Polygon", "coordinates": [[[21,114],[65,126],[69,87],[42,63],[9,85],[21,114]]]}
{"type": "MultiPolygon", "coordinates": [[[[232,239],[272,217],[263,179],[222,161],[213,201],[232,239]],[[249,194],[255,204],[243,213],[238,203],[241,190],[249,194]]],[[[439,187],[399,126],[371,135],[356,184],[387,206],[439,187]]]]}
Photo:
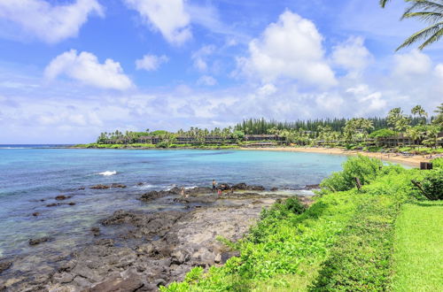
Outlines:
{"type": "Polygon", "coordinates": [[[392,0],[1,0],[0,144],[443,102],[443,42],[392,0]]]}

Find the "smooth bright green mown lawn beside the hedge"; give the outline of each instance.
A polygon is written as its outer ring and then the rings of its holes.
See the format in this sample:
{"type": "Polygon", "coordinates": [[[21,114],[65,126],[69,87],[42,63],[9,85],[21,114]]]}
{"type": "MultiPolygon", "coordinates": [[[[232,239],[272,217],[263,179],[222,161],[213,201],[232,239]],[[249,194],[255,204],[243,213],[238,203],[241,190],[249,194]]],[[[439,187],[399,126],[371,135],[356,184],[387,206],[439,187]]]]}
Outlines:
{"type": "Polygon", "coordinates": [[[443,202],[405,204],[397,219],[394,291],[443,291],[443,202]]]}

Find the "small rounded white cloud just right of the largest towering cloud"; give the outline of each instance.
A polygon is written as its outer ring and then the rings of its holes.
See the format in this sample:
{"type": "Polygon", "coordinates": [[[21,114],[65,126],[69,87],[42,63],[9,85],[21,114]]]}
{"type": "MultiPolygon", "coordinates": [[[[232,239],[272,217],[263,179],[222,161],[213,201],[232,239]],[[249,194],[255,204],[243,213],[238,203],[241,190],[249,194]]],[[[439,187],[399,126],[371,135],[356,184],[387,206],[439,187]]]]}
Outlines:
{"type": "Polygon", "coordinates": [[[332,63],[352,73],[359,73],[369,65],[372,55],[364,46],[362,37],[350,37],[333,48],[332,63]]]}

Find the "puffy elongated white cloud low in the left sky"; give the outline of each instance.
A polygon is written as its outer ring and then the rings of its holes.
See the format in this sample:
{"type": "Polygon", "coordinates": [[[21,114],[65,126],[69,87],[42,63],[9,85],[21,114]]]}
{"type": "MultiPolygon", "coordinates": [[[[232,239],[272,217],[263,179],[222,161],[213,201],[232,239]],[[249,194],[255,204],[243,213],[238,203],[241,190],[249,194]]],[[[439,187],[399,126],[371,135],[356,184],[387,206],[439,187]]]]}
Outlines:
{"type": "Polygon", "coordinates": [[[95,55],[86,51],[77,55],[76,50],[68,50],[58,55],[46,66],[44,75],[50,80],[58,75],[66,75],[97,88],[123,90],[133,86],[128,76],[123,73],[119,62],[108,58],[104,64],[100,64],[95,55]]]}

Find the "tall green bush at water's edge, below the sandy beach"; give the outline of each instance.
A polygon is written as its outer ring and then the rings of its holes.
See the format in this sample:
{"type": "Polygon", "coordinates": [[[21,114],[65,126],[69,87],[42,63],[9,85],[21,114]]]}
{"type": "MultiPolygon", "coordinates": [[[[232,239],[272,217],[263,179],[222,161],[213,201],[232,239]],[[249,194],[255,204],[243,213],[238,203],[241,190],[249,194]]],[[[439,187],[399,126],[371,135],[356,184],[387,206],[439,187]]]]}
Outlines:
{"type": "Polygon", "coordinates": [[[367,158],[361,155],[348,158],[343,164],[343,171],[332,173],[329,178],[321,183],[322,188],[332,191],[344,191],[355,187],[355,178],[358,178],[362,185],[374,181],[381,172],[383,163],[376,158],[367,158]]]}

